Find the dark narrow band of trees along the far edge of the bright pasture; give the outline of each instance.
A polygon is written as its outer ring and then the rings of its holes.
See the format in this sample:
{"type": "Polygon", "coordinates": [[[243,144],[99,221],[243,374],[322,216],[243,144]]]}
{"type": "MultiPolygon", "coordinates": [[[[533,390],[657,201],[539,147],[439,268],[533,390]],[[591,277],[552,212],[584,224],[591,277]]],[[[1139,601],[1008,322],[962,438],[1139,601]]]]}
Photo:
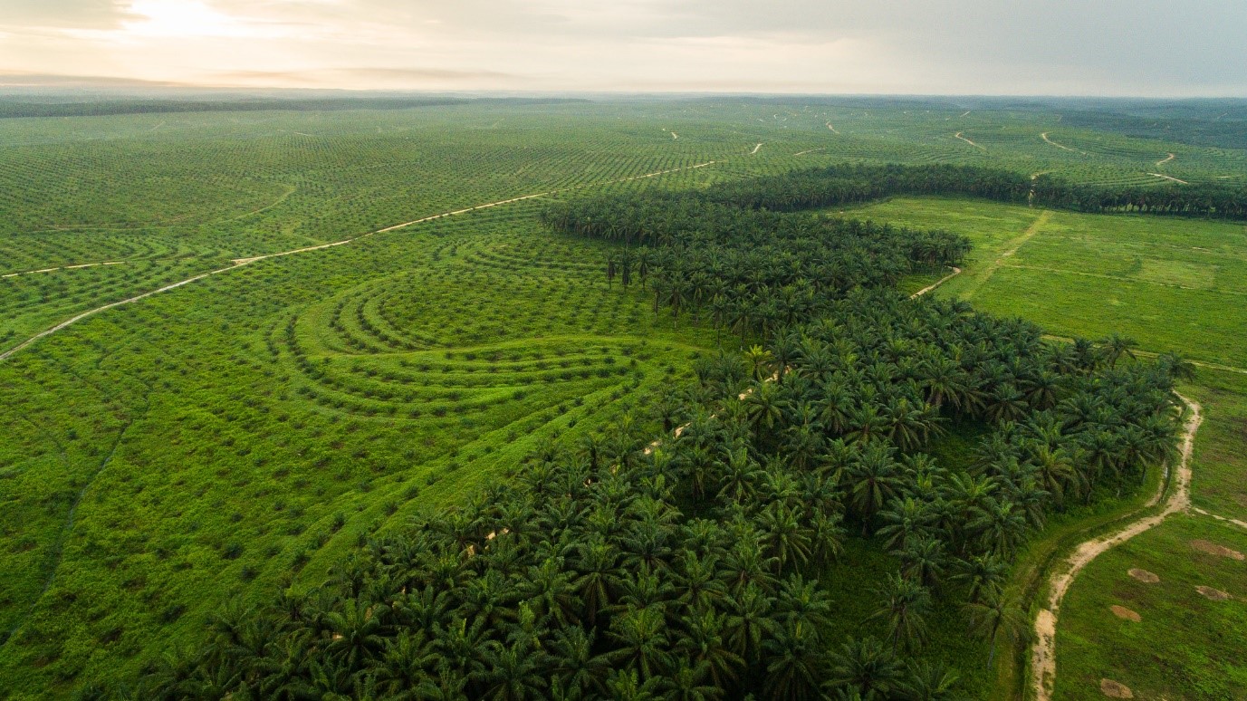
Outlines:
{"type": "Polygon", "coordinates": [[[1139,212],[1247,218],[1247,192],[1207,183],[1106,186],[1038,177],[1001,168],[949,165],[835,165],[720,185],[701,197],[754,210],[792,212],[869,202],[893,195],[965,195],[1031,202],[1076,212],[1139,212]]]}

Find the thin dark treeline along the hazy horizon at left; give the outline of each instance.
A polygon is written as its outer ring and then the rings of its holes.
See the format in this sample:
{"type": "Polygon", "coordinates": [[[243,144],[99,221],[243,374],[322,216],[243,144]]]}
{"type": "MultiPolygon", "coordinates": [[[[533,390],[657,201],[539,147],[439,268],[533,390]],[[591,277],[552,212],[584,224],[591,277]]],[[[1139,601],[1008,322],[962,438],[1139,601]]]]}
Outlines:
{"type": "Polygon", "coordinates": [[[410,110],[440,105],[552,105],[585,102],[585,100],[554,97],[333,97],[284,100],[101,100],[92,102],[5,102],[0,101],[0,118],[12,117],[99,117],[106,115],[146,115],[172,112],[259,112],[286,110],[296,112],[329,112],[343,110],[410,110]]]}

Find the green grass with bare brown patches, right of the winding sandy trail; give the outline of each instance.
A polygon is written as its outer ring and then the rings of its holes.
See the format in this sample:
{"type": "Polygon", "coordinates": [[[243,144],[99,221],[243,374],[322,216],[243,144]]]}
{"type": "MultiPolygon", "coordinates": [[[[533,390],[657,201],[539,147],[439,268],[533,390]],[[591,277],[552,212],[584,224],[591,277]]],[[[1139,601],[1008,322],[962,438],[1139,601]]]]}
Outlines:
{"type": "MultiPolygon", "coordinates": [[[[1198,473],[1197,473],[1198,474],[1198,473]]],[[[1247,531],[1205,516],[1175,516],[1096,559],[1061,606],[1055,699],[1104,699],[1100,680],[1136,699],[1241,699],[1247,689],[1247,569],[1191,546],[1208,540],[1247,551],[1247,531]],[[1155,573],[1156,584],[1130,576],[1155,573]],[[1230,592],[1215,601],[1197,586],[1230,592]],[[1124,606],[1140,621],[1116,616],[1124,606]]]]}

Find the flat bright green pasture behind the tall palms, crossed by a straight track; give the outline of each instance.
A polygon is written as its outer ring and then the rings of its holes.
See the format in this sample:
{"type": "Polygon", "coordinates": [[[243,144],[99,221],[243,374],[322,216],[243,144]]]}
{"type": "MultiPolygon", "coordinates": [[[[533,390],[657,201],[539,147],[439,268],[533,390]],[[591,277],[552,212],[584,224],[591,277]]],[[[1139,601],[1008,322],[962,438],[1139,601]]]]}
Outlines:
{"type": "Polygon", "coordinates": [[[1153,353],[1247,367],[1240,342],[1247,328],[1247,228],[1240,223],[1045,215],[940,198],[894,198],[847,216],[970,236],[971,264],[940,294],[1025,317],[1054,334],[1096,339],[1117,332],[1153,353]]]}

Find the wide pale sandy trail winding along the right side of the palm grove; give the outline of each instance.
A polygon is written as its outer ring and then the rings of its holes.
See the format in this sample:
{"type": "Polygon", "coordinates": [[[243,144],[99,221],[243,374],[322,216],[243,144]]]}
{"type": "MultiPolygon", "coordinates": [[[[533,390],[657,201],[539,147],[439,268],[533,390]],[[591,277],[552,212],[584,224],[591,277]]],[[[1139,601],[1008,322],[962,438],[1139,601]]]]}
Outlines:
{"type": "MultiPolygon", "coordinates": [[[[1190,409],[1186,427],[1182,433],[1182,459],[1177,468],[1177,480],[1173,491],[1165,501],[1165,508],[1155,515],[1145,516],[1127,525],[1126,528],[1110,535],[1092,538],[1079,545],[1074,553],[1057,566],[1049,578],[1047,606],[1039,612],[1035,619],[1035,644],[1030,652],[1030,686],[1036,701],[1050,701],[1052,697],[1052,685],[1056,681],[1056,622],[1060,614],[1061,599],[1074,584],[1082,568],[1087,566],[1099,555],[1110,548],[1121,545],[1131,538],[1147,531],[1161,524],[1167,516],[1191,508],[1191,453],[1195,448],[1195,433],[1200,430],[1200,422],[1203,420],[1200,413],[1200,404],[1192,399],[1178,395],[1190,409]]],[[[1162,483],[1156,494],[1148,500],[1145,509],[1160,503],[1165,491],[1162,483]]]]}

